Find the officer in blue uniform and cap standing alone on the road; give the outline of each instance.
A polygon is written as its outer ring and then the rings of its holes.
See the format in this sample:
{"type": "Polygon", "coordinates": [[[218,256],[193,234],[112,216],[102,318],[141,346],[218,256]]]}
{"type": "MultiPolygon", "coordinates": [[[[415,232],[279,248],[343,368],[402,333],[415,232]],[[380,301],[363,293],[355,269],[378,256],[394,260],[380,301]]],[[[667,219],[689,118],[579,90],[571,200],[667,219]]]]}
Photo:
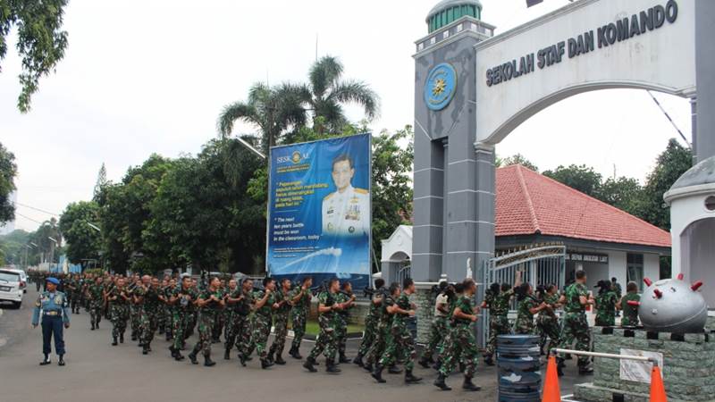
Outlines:
{"type": "Polygon", "coordinates": [[[57,278],[47,278],[46,290],[40,293],[32,313],[32,328],[36,328],[39,316],[42,314],[42,353],[45,360],[40,365],[50,364],[50,340],[55,336],[55,353],[59,357],[58,365],[64,365],[63,326],[70,328],[70,313],[67,296],[57,290],[60,281],[57,278]]]}

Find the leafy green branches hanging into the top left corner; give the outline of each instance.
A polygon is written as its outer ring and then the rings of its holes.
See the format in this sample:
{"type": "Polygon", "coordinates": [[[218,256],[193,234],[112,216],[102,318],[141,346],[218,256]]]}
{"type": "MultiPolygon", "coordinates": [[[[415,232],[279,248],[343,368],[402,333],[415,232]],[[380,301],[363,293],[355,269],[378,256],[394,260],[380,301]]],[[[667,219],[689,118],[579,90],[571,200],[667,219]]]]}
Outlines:
{"type": "Polygon", "coordinates": [[[0,62],[7,54],[7,38],[14,27],[18,36],[17,51],[22,58],[22,88],[17,101],[22,113],[29,111],[39,79],[54,71],[64,57],[67,32],[62,30],[62,24],[67,3],[68,0],[0,1],[0,62]]]}

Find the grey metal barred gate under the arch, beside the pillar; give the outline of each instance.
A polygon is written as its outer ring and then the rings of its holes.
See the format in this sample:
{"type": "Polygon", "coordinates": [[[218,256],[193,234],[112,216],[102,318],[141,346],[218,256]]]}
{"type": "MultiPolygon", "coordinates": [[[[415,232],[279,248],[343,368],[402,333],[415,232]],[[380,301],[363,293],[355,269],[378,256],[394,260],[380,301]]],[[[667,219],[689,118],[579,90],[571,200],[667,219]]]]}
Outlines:
{"type": "MultiPolygon", "coordinates": [[[[517,271],[523,272],[521,279],[535,288],[538,285],[554,284],[563,289],[566,272],[566,246],[563,244],[534,244],[518,249],[507,250],[484,261],[483,289],[494,283],[514,284],[517,271]]],[[[484,295],[484,291],[480,292],[484,295]]],[[[509,307],[509,315],[517,310],[516,298],[509,307]]],[[[489,310],[482,316],[480,345],[484,347],[489,339],[489,310]]]]}

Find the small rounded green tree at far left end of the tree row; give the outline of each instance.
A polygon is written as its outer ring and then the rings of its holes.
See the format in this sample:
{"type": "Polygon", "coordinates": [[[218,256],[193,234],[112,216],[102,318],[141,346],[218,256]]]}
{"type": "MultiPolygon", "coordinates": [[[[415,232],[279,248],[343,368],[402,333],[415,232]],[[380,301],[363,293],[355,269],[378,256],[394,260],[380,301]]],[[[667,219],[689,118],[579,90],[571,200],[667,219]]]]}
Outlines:
{"type": "Polygon", "coordinates": [[[102,239],[88,223],[97,222],[99,205],[94,201],[71,203],[60,218],[60,230],[67,240],[66,254],[72,264],[88,265],[88,259],[99,260],[102,239]]]}

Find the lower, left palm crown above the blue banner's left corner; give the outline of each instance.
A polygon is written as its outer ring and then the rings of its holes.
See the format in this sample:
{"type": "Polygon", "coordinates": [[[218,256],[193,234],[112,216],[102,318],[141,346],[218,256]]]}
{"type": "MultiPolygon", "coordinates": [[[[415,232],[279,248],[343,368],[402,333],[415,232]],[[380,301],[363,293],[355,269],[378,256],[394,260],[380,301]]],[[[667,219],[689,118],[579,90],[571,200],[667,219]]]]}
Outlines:
{"type": "Polygon", "coordinates": [[[261,130],[261,144],[267,153],[283,132],[305,125],[306,111],[297,94],[256,83],[248,91],[247,102],[235,102],[223,108],[218,118],[218,130],[223,138],[231,135],[237,120],[261,130]]]}

